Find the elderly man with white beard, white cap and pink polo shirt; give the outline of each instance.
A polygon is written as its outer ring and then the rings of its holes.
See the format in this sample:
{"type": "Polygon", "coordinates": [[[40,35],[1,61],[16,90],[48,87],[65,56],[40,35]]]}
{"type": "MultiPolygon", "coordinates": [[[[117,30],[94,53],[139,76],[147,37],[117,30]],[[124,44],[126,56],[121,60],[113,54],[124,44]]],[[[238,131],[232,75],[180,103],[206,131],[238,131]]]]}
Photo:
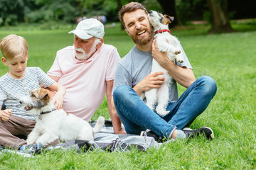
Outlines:
{"type": "Polygon", "coordinates": [[[74,45],[59,50],[47,72],[67,89],[64,110],[89,121],[106,94],[114,132],[124,133],[110,106],[114,72],[120,60],[117,49],[103,43],[104,26],[97,19],[85,19],[69,33],[74,34],[74,45]]]}

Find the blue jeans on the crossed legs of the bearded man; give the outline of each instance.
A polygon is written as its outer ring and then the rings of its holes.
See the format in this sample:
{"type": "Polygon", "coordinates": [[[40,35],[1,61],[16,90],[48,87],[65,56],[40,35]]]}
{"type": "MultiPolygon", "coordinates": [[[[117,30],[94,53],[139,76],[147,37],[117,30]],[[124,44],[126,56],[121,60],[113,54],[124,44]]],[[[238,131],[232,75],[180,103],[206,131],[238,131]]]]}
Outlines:
{"type": "Polygon", "coordinates": [[[175,129],[191,125],[203,113],[217,91],[215,81],[200,77],[184,91],[178,101],[169,103],[167,115],[151,111],[131,87],[120,85],[114,90],[114,106],[128,134],[139,135],[149,129],[159,137],[171,137],[175,129]]]}

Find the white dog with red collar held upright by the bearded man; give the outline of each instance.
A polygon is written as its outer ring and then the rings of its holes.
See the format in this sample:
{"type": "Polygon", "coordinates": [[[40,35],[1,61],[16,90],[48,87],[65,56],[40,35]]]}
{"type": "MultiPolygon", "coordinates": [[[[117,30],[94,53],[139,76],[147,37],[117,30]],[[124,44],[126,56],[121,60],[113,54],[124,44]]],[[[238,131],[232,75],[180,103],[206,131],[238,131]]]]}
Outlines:
{"type": "MultiPolygon", "coordinates": [[[[163,16],[161,13],[156,11],[150,11],[148,16],[149,22],[154,28],[154,40],[157,41],[159,51],[167,52],[167,57],[174,63],[183,62],[180,42],[176,37],[171,35],[168,28],[168,24],[174,20],[174,17],[166,15],[163,16]]],[[[161,65],[153,58],[151,73],[154,72],[164,72],[164,84],[162,84],[159,89],[145,91],[146,105],[153,111],[157,102],[156,112],[159,115],[166,115],[169,113],[169,111],[166,111],[166,106],[169,100],[169,84],[172,81],[172,77],[166,69],[161,67],[161,65]]]]}

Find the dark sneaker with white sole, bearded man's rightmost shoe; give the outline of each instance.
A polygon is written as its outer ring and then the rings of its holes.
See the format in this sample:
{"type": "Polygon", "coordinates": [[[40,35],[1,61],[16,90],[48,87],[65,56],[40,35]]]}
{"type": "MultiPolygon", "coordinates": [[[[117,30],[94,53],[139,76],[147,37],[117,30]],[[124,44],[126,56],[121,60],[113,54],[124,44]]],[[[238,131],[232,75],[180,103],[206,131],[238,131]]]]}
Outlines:
{"type": "Polygon", "coordinates": [[[200,135],[205,135],[207,140],[212,140],[214,138],[214,133],[211,128],[203,127],[196,130],[190,128],[183,128],[182,130],[186,137],[198,137],[200,135]]]}

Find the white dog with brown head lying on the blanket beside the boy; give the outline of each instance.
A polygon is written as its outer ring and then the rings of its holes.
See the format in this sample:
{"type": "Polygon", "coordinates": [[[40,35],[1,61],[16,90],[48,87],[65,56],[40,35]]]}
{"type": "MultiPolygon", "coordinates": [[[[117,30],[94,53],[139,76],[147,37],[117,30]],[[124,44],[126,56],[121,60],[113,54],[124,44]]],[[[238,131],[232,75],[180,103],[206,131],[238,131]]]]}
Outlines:
{"type": "Polygon", "coordinates": [[[39,143],[47,146],[59,138],[68,140],[94,140],[93,134],[99,132],[105,118],[97,119],[95,128],[75,115],[65,113],[63,109],[55,110],[50,92],[46,89],[31,91],[30,96],[21,98],[20,103],[31,115],[38,115],[35,128],[28,135],[27,144],[39,143]]]}

